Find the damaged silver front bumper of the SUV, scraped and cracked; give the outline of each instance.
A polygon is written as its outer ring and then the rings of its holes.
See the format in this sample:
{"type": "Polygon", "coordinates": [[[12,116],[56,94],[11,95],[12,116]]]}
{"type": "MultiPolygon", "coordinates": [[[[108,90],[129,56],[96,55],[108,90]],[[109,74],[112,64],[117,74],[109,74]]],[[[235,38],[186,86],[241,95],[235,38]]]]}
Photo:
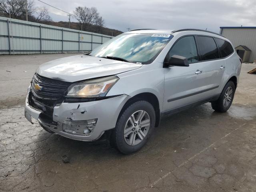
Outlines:
{"type": "MultiPolygon", "coordinates": [[[[29,94],[28,94],[29,95],[29,94]]],[[[28,95],[24,108],[25,117],[31,121],[31,117],[39,121],[39,123],[59,134],[61,136],[82,141],[97,140],[102,136],[104,131],[110,130],[116,126],[116,121],[122,107],[130,98],[127,95],[116,96],[104,100],[80,103],[62,103],[60,106],[55,106],[52,120],[44,119],[43,112],[29,105],[28,95]],[[64,131],[64,126],[79,122],[97,119],[96,125],[90,134],[78,135],[64,131]]]]}

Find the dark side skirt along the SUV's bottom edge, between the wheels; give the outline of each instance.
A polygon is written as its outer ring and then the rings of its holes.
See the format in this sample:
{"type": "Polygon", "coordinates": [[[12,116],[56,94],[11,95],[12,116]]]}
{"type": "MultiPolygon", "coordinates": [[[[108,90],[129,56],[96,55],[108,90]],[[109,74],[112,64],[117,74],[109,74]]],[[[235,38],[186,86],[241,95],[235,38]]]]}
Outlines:
{"type": "Polygon", "coordinates": [[[189,109],[189,108],[192,108],[192,107],[195,107],[195,106],[207,103],[207,102],[216,101],[216,100],[218,100],[219,97],[220,97],[220,94],[217,94],[217,95],[214,95],[212,97],[206,98],[204,100],[194,102],[192,104],[188,104],[188,105],[185,105],[185,106],[182,106],[182,107],[178,107],[178,108],[174,108],[174,109],[171,109],[171,110],[168,110],[168,111],[164,111],[164,112],[162,112],[161,117],[172,115],[172,114],[181,112],[183,110],[186,110],[186,109],[189,109]]]}

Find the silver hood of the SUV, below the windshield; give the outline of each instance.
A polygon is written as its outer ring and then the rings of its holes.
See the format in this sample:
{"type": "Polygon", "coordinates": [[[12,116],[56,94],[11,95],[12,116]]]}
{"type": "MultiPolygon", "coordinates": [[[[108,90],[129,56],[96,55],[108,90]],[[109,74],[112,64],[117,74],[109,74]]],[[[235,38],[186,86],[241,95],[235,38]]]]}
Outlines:
{"type": "Polygon", "coordinates": [[[36,73],[48,78],[75,82],[90,78],[115,75],[138,69],[141,66],[141,64],[88,55],[78,55],[44,63],[38,67],[36,73]]]}

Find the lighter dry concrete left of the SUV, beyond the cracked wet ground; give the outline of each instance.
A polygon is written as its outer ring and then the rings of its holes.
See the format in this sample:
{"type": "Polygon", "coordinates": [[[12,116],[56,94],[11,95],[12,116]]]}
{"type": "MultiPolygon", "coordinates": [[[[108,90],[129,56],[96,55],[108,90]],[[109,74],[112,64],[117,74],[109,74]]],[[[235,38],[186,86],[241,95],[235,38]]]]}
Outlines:
{"type": "Polygon", "coordinates": [[[0,55],[0,108],[23,105],[28,85],[38,66],[42,63],[72,55],[31,54],[0,55]]]}

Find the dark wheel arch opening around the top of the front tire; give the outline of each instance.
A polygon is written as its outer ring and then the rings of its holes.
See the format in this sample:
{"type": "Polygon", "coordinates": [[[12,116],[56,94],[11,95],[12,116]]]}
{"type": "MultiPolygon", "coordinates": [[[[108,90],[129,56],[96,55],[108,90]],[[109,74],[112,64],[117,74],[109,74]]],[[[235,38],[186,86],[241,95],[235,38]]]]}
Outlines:
{"type": "Polygon", "coordinates": [[[139,101],[139,100],[144,100],[149,102],[150,104],[152,104],[152,106],[154,107],[155,113],[156,113],[156,123],[155,123],[155,127],[158,127],[159,123],[160,123],[160,105],[159,105],[159,100],[156,97],[155,94],[150,93],[150,92],[143,92],[140,94],[136,94],[134,96],[132,96],[129,100],[126,101],[126,103],[124,104],[122,110],[120,111],[118,118],[120,118],[120,116],[122,115],[122,112],[124,112],[124,110],[126,110],[126,108],[128,106],[130,106],[132,103],[139,101]]]}

